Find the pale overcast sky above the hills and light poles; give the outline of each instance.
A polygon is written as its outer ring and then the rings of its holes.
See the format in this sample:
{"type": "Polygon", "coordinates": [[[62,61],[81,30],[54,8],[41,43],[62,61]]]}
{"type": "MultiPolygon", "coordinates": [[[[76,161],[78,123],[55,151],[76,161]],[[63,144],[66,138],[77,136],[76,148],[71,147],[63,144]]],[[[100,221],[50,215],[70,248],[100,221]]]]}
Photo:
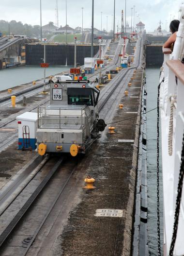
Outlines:
{"type": "MultiPolygon", "coordinates": [[[[131,24],[131,7],[134,5],[135,12],[139,14],[140,20],[146,25],[147,31],[153,31],[158,27],[159,20],[162,27],[168,29],[170,17],[178,18],[178,9],[181,0],[126,0],[126,20],[131,24]],[[171,15],[171,16],[170,16],[171,15]]],[[[94,0],[94,27],[102,29],[112,27],[114,0],[94,0]],[[108,17],[108,18],[107,18],[108,17]]],[[[83,27],[91,27],[92,20],[92,0],[67,0],[67,24],[73,28],[82,26],[82,7],[83,27]]],[[[116,0],[116,25],[121,24],[121,12],[125,12],[125,0],[116,0]]],[[[59,25],[66,24],[65,0],[58,0],[59,25]]],[[[134,14],[134,12],[133,12],[134,14]]],[[[136,16],[136,14],[135,14],[136,16]]],[[[0,19],[7,21],[16,20],[31,25],[40,24],[40,0],[0,0],[0,19]]],[[[56,0],[42,0],[42,25],[53,21],[56,24],[56,0]]]]}

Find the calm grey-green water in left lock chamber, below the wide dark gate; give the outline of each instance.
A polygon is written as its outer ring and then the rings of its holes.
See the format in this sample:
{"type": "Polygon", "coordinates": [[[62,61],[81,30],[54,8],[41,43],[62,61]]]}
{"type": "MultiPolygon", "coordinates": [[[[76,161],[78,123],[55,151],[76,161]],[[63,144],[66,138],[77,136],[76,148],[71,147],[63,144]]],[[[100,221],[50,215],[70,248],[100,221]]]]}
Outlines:
{"type": "MultiPolygon", "coordinates": [[[[46,68],[46,76],[55,75],[69,70],[66,66],[50,66],[46,68]]],[[[23,85],[44,77],[44,68],[39,66],[24,66],[0,70],[0,91],[23,85]]]]}

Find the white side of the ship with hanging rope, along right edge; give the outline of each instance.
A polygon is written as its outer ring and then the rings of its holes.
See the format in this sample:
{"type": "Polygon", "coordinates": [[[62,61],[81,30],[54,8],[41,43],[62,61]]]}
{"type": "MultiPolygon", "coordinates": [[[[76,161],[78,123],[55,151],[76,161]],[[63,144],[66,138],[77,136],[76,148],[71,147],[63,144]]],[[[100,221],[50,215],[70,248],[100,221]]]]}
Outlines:
{"type": "MultiPolygon", "coordinates": [[[[170,49],[163,49],[163,53],[164,64],[160,81],[164,78],[164,82],[160,87],[160,112],[164,194],[164,255],[169,255],[184,135],[184,64],[181,62],[184,56],[184,8],[182,8],[174,50],[170,54],[170,49]]],[[[173,255],[184,255],[184,188],[173,255]]]]}

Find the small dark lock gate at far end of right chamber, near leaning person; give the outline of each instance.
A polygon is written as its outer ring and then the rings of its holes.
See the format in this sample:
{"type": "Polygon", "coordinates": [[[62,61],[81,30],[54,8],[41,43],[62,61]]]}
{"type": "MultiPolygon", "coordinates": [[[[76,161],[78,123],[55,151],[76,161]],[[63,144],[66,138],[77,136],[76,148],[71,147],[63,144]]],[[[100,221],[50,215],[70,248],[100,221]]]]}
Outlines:
{"type": "Polygon", "coordinates": [[[146,67],[161,67],[163,61],[162,46],[146,46],[146,67]]]}

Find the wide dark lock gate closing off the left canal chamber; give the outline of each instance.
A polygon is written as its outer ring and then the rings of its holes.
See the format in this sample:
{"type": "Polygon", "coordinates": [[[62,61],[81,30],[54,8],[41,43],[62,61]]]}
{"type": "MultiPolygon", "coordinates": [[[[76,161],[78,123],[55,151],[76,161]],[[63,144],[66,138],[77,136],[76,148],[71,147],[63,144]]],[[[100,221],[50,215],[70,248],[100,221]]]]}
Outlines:
{"type": "MultiPolygon", "coordinates": [[[[94,55],[99,50],[98,46],[94,46],[94,55]]],[[[91,46],[77,45],[77,64],[83,65],[84,58],[91,57],[91,46]]],[[[44,45],[26,45],[26,64],[39,65],[43,62],[44,45]]],[[[46,45],[46,63],[50,65],[74,65],[74,45],[46,45]]]]}

